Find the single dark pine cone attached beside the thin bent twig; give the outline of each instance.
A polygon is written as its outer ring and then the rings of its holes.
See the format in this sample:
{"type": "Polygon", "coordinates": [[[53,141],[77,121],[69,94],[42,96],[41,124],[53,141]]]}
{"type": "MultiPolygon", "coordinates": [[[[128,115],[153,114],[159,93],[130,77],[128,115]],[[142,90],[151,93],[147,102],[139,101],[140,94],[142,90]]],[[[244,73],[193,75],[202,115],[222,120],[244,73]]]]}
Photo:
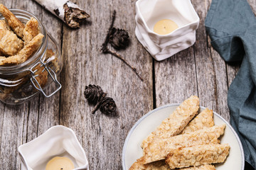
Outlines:
{"type": "Polygon", "coordinates": [[[110,33],[110,44],[117,50],[124,49],[129,45],[129,34],[126,30],[112,28],[110,33]]]}

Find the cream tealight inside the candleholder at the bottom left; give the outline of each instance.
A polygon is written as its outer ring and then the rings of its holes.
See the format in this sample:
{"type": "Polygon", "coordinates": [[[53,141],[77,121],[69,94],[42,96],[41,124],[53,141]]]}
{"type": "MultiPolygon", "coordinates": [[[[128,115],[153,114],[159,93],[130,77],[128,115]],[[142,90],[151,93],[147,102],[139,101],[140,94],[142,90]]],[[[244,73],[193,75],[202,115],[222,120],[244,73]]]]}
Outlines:
{"type": "Polygon", "coordinates": [[[73,162],[68,157],[54,157],[46,164],[46,170],[72,170],[73,162]]]}

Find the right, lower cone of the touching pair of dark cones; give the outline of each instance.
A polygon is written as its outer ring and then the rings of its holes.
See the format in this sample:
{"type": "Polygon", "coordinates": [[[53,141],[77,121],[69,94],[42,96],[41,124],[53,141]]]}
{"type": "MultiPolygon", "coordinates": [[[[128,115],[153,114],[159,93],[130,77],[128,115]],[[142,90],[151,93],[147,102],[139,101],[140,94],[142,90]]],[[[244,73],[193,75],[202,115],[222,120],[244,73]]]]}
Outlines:
{"type": "Polygon", "coordinates": [[[114,113],[117,110],[117,106],[114,103],[113,98],[105,97],[100,102],[100,111],[105,114],[114,113]]]}

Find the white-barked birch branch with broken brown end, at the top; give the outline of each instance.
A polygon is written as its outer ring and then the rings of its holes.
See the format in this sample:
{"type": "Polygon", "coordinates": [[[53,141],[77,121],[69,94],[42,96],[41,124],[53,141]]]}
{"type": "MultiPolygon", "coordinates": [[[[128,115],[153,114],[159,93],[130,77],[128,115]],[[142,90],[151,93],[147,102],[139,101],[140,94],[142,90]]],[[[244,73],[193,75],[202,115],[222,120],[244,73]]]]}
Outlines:
{"type": "Polygon", "coordinates": [[[85,11],[83,11],[77,4],[67,0],[35,0],[38,4],[41,4],[43,8],[58,16],[71,28],[79,28],[81,21],[90,17],[85,11]]]}

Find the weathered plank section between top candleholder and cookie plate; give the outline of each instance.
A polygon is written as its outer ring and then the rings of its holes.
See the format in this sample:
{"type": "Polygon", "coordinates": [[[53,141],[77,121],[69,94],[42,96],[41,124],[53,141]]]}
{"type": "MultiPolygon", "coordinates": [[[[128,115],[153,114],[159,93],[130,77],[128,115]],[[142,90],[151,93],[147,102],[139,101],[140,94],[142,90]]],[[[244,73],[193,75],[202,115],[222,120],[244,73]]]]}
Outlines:
{"type": "Polygon", "coordinates": [[[178,52],[167,60],[155,61],[156,107],[181,103],[198,95],[193,47],[178,52]]]}

